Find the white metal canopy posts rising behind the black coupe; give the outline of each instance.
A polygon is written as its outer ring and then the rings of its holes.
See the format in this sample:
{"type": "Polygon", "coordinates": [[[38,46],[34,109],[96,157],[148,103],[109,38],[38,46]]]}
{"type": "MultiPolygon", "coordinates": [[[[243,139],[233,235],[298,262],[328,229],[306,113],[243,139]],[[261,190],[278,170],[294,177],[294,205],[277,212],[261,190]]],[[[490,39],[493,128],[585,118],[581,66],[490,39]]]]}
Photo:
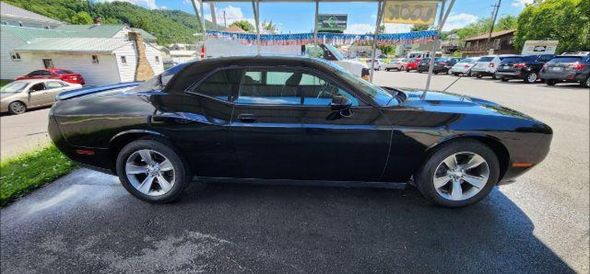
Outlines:
{"type": "MultiPolygon", "coordinates": [[[[369,81],[373,82],[373,73],[375,72],[375,60],[376,60],[376,51],[377,51],[377,38],[379,35],[379,26],[381,26],[381,22],[383,21],[383,14],[385,13],[385,6],[387,1],[395,1],[395,0],[354,0],[354,1],[343,1],[343,0],[191,0],[192,7],[195,9],[195,14],[199,14],[198,9],[196,8],[196,2],[199,3],[199,10],[201,11],[200,18],[201,28],[203,29],[203,46],[205,46],[205,39],[207,37],[207,31],[205,29],[205,11],[203,9],[204,2],[211,4],[211,14],[215,16],[215,3],[224,3],[224,2],[252,2],[252,9],[254,11],[254,21],[256,24],[256,41],[257,41],[257,48],[258,48],[258,55],[261,54],[261,46],[260,46],[260,2],[266,3],[295,3],[295,2],[315,2],[316,4],[316,11],[315,11],[315,25],[314,25],[314,33],[313,33],[313,44],[317,45],[317,15],[319,14],[319,3],[320,2],[376,2],[378,3],[377,8],[377,22],[375,26],[375,39],[373,39],[373,49],[372,49],[372,58],[371,58],[371,72],[369,76],[369,81]]],[[[405,0],[405,1],[421,1],[421,0],[405,0]]],[[[448,15],[453,9],[453,5],[455,4],[455,0],[450,0],[450,4],[448,8],[445,9],[445,5],[447,4],[447,0],[432,0],[441,2],[442,5],[440,7],[440,14],[438,15],[438,26],[437,26],[437,33],[434,38],[434,42],[432,43],[432,51],[430,54],[430,66],[428,68],[428,78],[426,79],[426,86],[424,92],[422,92],[421,98],[424,99],[428,89],[430,89],[430,82],[432,78],[432,67],[434,66],[434,57],[436,52],[438,51],[440,45],[440,32],[442,31],[442,26],[444,26],[445,21],[447,21],[448,15]]],[[[215,19],[215,18],[214,18],[215,19]]],[[[217,27],[217,25],[216,25],[217,27]]]]}

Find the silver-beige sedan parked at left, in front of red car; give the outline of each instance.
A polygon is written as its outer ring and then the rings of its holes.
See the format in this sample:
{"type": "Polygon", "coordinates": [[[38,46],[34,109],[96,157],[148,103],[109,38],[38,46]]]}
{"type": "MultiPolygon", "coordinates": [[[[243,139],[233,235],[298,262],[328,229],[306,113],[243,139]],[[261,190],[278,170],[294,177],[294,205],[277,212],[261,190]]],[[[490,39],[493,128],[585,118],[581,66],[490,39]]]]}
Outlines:
{"type": "Polygon", "coordinates": [[[63,91],[81,88],[79,83],[54,79],[31,79],[10,82],[0,89],[0,112],[25,113],[27,109],[48,106],[63,91]]]}

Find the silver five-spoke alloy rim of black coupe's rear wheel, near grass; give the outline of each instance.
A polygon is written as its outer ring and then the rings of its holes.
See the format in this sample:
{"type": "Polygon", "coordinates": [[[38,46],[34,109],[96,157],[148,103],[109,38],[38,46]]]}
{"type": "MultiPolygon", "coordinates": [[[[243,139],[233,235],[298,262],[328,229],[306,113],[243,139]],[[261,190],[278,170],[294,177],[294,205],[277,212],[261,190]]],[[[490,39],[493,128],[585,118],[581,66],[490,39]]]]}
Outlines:
{"type": "Polygon", "coordinates": [[[150,196],[168,193],[176,181],[174,167],[168,158],[150,149],[141,149],[129,155],[125,173],[137,191],[150,196]]]}

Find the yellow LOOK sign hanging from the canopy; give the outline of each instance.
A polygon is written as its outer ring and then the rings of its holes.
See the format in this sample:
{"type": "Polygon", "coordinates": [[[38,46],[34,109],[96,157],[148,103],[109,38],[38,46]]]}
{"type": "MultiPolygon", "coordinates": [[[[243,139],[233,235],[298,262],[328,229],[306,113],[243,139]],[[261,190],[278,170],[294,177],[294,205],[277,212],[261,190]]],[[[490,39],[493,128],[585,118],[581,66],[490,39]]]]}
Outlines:
{"type": "Polygon", "coordinates": [[[438,1],[395,1],[386,2],[383,22],[414,25],[432,25],[437,15],[438,1]]]}

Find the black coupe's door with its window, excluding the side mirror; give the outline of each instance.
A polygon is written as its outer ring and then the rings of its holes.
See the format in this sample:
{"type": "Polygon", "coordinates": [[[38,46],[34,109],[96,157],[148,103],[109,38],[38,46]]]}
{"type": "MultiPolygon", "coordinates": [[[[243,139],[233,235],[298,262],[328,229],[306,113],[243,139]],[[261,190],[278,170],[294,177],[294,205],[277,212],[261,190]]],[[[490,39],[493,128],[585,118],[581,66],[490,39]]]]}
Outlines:
{"type": "Polygon", "coordinates": [[[391,138],[379,109],[294,68],[247,69],[231,125],[245,178],[376,181],[391,138]],[[352,115],[330,109],[336,95],[350,99],[352,115]]]}

